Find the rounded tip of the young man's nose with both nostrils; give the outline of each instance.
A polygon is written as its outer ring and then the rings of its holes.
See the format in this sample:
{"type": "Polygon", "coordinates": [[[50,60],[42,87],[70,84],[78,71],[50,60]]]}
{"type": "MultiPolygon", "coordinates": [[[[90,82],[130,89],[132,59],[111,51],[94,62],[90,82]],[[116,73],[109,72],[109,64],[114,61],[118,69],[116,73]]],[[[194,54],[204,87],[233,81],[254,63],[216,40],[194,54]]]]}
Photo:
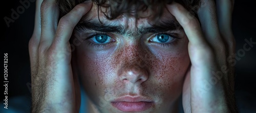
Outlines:
{"type": "Polygon", "coordinates": [[[139,65],[129,65],[121,70],[120,80],[123,82],[142,83],[148,79],[148,73],[139,65]]]}

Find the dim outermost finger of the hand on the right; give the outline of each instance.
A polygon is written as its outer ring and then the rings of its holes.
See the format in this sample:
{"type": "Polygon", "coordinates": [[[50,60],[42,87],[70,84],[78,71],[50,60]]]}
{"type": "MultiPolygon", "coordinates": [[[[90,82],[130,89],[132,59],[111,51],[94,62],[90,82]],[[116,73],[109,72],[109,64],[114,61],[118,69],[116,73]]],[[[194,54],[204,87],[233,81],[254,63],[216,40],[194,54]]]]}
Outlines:
{"type": "Polygon", "coordinates": [[[231,29],[233,0],[217,0],[217,14],[219,21],[219,29],[223,39],[226,42],[228,55],[232,55],[235,51],[235,40],[231,29]]]}

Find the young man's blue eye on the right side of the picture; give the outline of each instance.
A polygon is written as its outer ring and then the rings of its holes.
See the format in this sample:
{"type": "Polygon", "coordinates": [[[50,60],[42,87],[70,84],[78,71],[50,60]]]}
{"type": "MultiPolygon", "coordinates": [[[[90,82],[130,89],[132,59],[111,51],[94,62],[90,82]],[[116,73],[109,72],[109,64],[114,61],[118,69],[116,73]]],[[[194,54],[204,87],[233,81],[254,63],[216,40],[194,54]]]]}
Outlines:
{"type": "Polygon", "coordinates": [[[150,41],[158,42],[158,43],[168,43],[174,40],[174,37],[167,35],[167,34],[157,34],[155,37],[150,39],[150,41]]]}

